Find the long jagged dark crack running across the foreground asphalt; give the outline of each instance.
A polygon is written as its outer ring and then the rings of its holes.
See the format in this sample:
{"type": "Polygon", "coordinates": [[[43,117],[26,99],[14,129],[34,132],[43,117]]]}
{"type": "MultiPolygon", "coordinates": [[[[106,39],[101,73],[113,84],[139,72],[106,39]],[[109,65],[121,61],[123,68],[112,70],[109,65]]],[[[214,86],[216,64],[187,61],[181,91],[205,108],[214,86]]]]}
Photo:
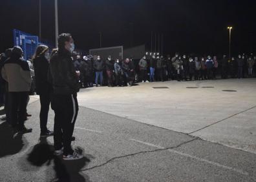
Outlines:
{"type": "Polygon", "coordinates": [[[80,172],[83,172],[83,171],[88,171],[88,170],[92,170],[94,168],[100,168],[100,167],[103,167],[105,165],[107,165],[108,163],[111,163],[112,161],[116,160],[116,159],[123,159],[125,157],[131,157],[131,156],[137,156],[139,154],[147,154],[147,153],[152,153],[152,152],[159,152],[159,151],[164,151],[164,150],[169,150],[169,149],[174,149],[174,148],[178,148],[178,147],[181,147],[182,145],[186,145],[187,143],[191,143],[192,141],[195,141],[197,140],[198,137],[195,137],[189,141],[185,141],[183,143],[180,143],[174,147],[168,147],[168,148],[158,148],[158,149],[155,149],[155,150],[146,150],[146,151],[141,151],[141,152],[136,152],[136,153],[133,153],[133,154],[127,154],[125,156],[118,156],[118,157],[112,157],[111,159],[107,160],[105,163],[102,163],[101,165],[96,165],[94,167],[90,167],[90,168],[85,168],[85,169],[82,169],[80,170],[80,172]]]}

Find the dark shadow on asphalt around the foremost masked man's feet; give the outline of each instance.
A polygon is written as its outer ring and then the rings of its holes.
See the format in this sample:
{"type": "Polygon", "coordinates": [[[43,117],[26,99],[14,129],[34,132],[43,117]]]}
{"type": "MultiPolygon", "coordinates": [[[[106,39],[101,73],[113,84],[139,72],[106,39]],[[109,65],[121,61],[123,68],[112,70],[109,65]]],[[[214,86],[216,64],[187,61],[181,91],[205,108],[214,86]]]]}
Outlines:
{"type": "MultiPolygon", "coordinates": [[[[79,150],[83,153],[81,148],[79,150]]],[[[46,138],[40,138],[40,142],[28,154],[27,161],[36,167],[50,166],[53,161],[55,178],[51,181],[89,182],[89,177],[85,174],[82,175],[80,170],[87,166],[91,160],[88,157],[83,157],[78,160],[64,161],[61,157],[54,155],[54,147],[48,143],[46,138]]]]}

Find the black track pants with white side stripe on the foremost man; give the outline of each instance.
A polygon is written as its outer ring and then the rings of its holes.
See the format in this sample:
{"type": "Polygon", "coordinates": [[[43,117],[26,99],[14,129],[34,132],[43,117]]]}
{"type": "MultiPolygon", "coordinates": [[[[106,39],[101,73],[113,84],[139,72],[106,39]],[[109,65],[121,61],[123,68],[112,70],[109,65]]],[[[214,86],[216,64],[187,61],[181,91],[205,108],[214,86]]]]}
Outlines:
{"type": "Polygon", "coordinates": [[[52,109],[54,117],[54,148],[60,150],[64,147],[63,154],[73,154],[71,138],[74,132],[74,124],[78,116],[78,99],[76,94],[59,95],[52,97],[52,109]]]}

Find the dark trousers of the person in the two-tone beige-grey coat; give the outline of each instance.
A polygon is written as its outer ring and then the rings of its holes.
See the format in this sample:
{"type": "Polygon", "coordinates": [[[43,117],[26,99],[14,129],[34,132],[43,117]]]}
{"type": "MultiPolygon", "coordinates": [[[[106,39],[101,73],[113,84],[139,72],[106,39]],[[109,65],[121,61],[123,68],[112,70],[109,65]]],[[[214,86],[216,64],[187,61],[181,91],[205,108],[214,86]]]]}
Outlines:
{"type": "Polygon", "coordinates": [[[12,127],[22,129],[27,119],[27,99],[28,92],[9,92],[8,102],[10,102],[10,123],[12,127]]]}

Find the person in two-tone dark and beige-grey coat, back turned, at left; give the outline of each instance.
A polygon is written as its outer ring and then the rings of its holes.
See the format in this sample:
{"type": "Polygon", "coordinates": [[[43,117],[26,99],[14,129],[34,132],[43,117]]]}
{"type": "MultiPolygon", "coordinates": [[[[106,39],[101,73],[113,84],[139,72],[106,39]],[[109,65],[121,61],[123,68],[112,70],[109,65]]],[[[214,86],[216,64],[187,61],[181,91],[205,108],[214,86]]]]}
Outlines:
{"type": "Polygon", "coordinates": [[[27,99],[32,83],[30,68],[23,59],[23,50],[19,46],[12,48],[11,56],[1,68],[1,75],[8,83],[8,99],[10,105],[10,125],[16,132],[32,132],[25,127],[27,119],[27,99]]]}

